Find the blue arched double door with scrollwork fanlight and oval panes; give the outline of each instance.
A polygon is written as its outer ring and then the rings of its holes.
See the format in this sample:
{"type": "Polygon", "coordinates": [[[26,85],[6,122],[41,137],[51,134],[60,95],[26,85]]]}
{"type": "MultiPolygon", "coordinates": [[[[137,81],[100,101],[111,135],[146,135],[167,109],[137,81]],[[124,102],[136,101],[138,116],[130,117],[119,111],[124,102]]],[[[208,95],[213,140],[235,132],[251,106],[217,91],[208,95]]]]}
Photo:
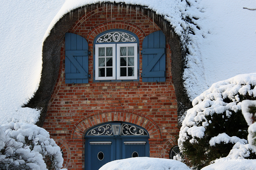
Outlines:
{"type": "Polygon", "coordinates": [[[149,157],[149,134],[146,129],[127,122],[108,122],[85,134],[85,169],[98,170],[119,159],[149,157]]]}

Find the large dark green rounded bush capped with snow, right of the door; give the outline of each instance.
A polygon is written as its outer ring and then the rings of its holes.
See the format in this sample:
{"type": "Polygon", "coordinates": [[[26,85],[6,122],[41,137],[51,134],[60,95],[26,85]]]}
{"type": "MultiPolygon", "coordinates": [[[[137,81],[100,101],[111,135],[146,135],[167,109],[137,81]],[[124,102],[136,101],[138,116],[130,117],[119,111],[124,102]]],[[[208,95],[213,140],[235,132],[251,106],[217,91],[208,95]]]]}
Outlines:
{"type": "Polygon", "coordinates": [[[201,169],[236,149],[242,152],[240,158],[255,157],[245,140],[248,126],[241,113],[241,101],[256,100],[255,85],[256,73],[238,75],[214,83],[193,100],[178,139],[182,154],[193,166],[201,169]]]}

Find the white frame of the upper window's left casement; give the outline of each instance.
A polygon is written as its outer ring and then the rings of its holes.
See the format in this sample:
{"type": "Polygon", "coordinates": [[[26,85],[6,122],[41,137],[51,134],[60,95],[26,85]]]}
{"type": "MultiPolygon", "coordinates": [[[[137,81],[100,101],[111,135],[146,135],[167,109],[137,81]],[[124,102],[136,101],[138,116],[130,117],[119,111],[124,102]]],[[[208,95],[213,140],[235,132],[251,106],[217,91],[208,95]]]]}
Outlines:
{"type": "MultiPolygon", "coordinates": [[[[95,44],[95,80],[116,80],[116,54],[115,54],[115,46],[116,44],[95,44]],[[100,47],[112,47],[112,76],[111,77],[100,77],[99,76],[99,48],[100,47]]],[[[106,48],[105,48],[105,55],[106,55],[106,48]]],[[[106,60],[105,60],[105,67],[106,60]]]]}

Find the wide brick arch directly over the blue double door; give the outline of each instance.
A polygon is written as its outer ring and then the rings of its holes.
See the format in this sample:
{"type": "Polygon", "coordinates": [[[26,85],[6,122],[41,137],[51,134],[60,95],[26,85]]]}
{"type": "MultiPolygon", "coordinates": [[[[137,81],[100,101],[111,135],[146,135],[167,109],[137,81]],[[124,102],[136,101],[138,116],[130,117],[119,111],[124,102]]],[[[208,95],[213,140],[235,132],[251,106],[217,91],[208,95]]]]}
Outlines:
{"type": "Polygon", "coordinates": [[[162,138],[160,128],[149,116],[129,110],[118,109],[98,111],[80,119],[74,125],[70,138],[83,139],[87,129],[96,126],[97,124],[111,121],[123,121],[136,124],[145,128],[148,131],[150,138],[162,138]]]}

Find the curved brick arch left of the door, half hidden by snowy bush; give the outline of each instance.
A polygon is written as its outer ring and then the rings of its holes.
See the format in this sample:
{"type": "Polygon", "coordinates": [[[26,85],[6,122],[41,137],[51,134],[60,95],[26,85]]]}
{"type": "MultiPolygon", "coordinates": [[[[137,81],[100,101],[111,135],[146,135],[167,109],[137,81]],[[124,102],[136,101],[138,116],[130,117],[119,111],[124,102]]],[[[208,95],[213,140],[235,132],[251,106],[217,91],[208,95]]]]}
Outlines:
{"type": "Polygon", "coordinates": [[[70,148],[69,148],[68,144],[66,142],[64,142],[62,139],[55,139],[55,142],[57,143],[57,145],[61,148],[61,150],[63,152],[64,160],[63,160],[62,168],[67,168],[69,166],[70,159],[71,159],[70,148]]]}

